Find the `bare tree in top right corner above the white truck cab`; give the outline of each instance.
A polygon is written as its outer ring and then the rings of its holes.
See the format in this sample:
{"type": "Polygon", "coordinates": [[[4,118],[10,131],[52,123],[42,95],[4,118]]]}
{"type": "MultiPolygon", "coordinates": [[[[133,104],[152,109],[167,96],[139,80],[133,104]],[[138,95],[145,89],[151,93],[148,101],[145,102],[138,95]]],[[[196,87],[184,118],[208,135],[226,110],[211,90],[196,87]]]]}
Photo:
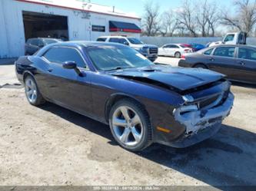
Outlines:
{"type": "Polygon", "coordinates": [[[236,0],[236,16],[222,13],[222,24],[246,31],[249,35],[254,31],[256,25],[256,0],[236,0]]]}

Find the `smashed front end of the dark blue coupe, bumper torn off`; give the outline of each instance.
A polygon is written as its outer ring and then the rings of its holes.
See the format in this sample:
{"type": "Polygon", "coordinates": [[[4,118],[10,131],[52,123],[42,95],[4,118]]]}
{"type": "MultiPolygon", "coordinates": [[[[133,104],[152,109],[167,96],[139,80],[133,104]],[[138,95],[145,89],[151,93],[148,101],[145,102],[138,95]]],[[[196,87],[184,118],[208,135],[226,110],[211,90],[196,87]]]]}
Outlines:
{"type": "Polygon", "coordinates": [[[185,134],[171,143],[172,147],[189,147],[208,139],[218,132],[222,120],[230,114],[234,95],[228,81],[214,87],[214,91],[204,91],[186,94],[185,103],[173,110],[175,120],[185,126],[185,134]]]}

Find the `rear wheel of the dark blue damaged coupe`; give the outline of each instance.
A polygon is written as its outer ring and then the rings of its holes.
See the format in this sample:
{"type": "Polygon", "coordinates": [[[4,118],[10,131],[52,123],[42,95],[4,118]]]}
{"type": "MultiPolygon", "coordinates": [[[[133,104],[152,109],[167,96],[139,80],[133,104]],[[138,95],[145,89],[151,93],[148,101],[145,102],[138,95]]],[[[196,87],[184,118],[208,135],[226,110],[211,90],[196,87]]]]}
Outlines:
{"type": "Polygon", "coordinates": [[[28,75],[28,77],[25,78],[25,95],[29,104],[38,106],[45,103],[45,99],[38,90],[34,77],[31,75],[28,75]]]}

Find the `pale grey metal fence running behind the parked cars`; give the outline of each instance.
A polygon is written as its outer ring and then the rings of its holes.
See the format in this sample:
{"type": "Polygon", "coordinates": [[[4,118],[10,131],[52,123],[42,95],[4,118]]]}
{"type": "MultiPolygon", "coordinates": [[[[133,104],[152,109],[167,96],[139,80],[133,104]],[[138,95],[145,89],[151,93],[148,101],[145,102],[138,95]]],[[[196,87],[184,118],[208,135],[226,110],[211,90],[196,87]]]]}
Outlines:
{"type": "MultiPolygon", "coordinates": [[[[161,47],[164,44],[171,43],[198,43],[198,44],[208,44],[208,42],[221,41],[222,38],[218,37],[200,37],[200,38],[190,38],[190,37],[141,37],[141,41],[146,44],[155,44],[161,47]]],[[[247,44],[256,45],[256,38],[248,38],[247,44]]]]}

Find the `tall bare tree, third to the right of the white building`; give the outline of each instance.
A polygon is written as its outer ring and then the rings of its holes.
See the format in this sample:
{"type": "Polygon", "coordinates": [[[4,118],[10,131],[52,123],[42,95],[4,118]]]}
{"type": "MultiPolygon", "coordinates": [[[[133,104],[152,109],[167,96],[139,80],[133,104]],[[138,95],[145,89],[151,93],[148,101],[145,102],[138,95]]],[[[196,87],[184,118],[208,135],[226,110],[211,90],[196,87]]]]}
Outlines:
{"type": "Polygon", "coordinates": [[[178,24],[180,28],[185,28],[189,31],[191,36],[197,37],[197,21],[195,7],[192,5],[191,0],[184,0],[182,2],[182,7],[177,12],[178,24]]]}

